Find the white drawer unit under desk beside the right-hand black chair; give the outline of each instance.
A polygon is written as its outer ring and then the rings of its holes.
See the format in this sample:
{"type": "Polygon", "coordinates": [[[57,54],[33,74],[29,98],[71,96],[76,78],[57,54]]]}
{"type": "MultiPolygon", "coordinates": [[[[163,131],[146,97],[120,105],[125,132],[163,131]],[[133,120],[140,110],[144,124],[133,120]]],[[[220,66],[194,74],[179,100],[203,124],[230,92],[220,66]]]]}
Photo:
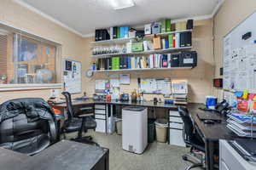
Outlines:
{"type": "Polygon", "coordinates": [[[169,144],[186,147],[183,141],[183,120],[178,111],[169,112],[169,144]]]}

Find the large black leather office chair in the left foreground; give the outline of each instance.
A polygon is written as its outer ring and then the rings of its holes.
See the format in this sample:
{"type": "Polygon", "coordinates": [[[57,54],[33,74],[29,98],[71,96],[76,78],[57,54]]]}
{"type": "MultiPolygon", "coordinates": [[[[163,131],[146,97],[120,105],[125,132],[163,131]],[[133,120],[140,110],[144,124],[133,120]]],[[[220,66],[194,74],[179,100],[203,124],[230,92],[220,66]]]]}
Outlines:
{"type": "Polygon", "coordinates": [[[12,99],[0,105],[0,147],[32,156],[55,141],[55,113],[44,99],[12,99]]]}

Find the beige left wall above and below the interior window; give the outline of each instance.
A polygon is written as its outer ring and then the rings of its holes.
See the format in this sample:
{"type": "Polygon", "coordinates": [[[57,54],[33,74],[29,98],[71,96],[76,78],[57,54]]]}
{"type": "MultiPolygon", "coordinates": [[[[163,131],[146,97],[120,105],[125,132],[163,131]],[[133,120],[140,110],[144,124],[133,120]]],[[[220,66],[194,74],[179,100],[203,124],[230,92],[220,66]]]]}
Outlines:
{"type": "MultiPolygon", "coordinates": [[[[85,62],[86,47],[84,47],[83,37],[67,31],[67,29],[56,25],[39,14],[33,13],[27,8],[21,7],[11,0],[0,0],[0,22],[51,39],[55,42],[60,42],[62,44],[62,56],[79,60],[83,63],[85,62]]],[[[85,87],[84,82],[83,87],[85,87]]],[[[20,97],[42,97],[48,99],[49,94],[49,89],[0,92],[0,103],[7,99],[20,97]]]]}

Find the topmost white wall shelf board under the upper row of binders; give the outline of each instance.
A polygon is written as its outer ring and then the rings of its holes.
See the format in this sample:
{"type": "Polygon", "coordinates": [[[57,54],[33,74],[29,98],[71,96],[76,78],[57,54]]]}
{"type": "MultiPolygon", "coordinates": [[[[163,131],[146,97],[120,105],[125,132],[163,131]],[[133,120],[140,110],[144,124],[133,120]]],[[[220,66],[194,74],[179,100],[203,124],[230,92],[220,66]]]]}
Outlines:
{"type": "MultiPolygon", "coordinates": [[[[155,35],[156,36],[165,37],[165,36],[167,36],[169,34],[182,33],[182,32],[188,32],[188,31],[192,31],[192,30],[171,31],[171,32],[160,33],[160,34],[155,34],[155,35]]],[[[145,35],[144,38],[152,38],[152,37],[154,37],[154,34],[145,35]]],[[[111,40],[98,41],[98,42],[90,42],[90,43],[92,45],[110,45],[110,44],[126,43],[126,42],[129,42],[130,40],[135,40],[135,37],[111,39],[111,40]]]]}

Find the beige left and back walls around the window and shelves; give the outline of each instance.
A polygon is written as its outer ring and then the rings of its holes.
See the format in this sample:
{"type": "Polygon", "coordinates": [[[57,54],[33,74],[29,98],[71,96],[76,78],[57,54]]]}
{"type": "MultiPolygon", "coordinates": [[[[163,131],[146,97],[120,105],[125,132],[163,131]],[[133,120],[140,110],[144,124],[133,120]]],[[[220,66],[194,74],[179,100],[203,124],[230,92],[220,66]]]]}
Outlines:
{"type": "MultiPolygon", "coordinates": [[[[0,22],[32,32],[39,36],[52,39],[62,44],[62,56],[82,62],[83,91],[94,94],[95,80],[108,78],[107,73],[96,73],[94,77],[86,78],[85,71],[90,68],[90,38],[79,37],[71,31],[56,25],[52,21],[33,13],[27,8],[10,0],[0,0],[0,22]]],[[[131,73],[131,85],[122,86],[121,90],[130,93],[137,88],[137,77],[170,77],[171,79],[188,79],[189,101],[204,102],[205,96],[212,94],[213,58],[212,58],[212,20],[195,22],[193,31],[193,47],[198,52],[198,66],[188,71],[141,71],[131,73]]],[[[61,65],[61,63],[60,63],[61,65]]],[[[49,98],[49,90],[32,90],[18,92],[0,92],[0,103],[7,99],[20,97],[49,98]]],[[[151,97],[151,96],[148,96],[151,97]]],[[[146,96],[147,98],[147,96],[146,96]]]]}

